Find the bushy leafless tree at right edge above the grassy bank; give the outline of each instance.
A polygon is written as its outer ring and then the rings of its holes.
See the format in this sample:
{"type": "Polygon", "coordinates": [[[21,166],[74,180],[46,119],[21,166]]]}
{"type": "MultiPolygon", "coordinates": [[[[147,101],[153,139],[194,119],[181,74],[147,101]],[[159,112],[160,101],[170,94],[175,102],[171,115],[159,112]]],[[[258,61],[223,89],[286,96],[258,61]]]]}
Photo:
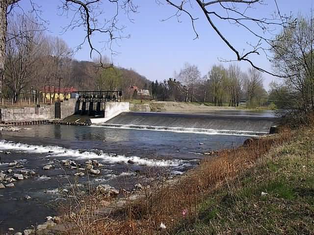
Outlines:
{"type": "Polygon", "coordinates": [[[308,118],[314,112],[314,16],[299,16],[294,28],[284,29],[274,42],[272,60],[274,68],[286,74],[288,93],[298,99],[290,103],[291,109],[305,113],[308,118]]]}

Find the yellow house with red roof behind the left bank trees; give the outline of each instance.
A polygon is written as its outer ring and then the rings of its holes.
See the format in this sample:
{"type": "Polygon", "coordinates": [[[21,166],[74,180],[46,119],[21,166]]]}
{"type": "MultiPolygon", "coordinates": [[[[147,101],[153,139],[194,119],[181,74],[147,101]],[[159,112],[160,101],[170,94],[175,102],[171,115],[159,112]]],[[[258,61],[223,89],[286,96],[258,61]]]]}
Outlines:
{"type": "Polygon", "coordinates": [[[47,100],[65,100],[71,98],[71,94],[77,91],[74,87],[62,87],[59,88],[55,86],[45,86],[40,94],[47,100]],[[59,97],[60,95],[60,97],[59,97]]]}

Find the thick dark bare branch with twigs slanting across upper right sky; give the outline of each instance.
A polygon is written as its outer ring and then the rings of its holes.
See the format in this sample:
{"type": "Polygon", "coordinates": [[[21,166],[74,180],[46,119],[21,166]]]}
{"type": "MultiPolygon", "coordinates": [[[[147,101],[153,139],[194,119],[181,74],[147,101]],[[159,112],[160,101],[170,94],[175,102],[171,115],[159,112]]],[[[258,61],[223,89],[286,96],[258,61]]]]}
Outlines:
{"type": "MultiPolygon", "coordinates": [[[[183,12],[188,15],[188,17],[191,19],[191,22],[192,22],[192,28],[198,37],[198,34],[195,30],[195,20],[197,20],[198,18],[193,17],[191,11],[187,10],[184,7],[184,5],[189,1],[181,0],[181,4],[175,4],[174,0],[165,0],[165,1],[169,3],[170,5],[174,6],[175,8],[177,8],[178,12],[183,12]]],[[[256,3],[263,4],[263,0],[212,0],[212,1],[207,1],[207,2],[204,0],[195,0],[195,1],[197,5],[200,7],[200,9],[202,10],[202,12],[204,13],[205,18],[209,22],[209,25],[212,27],[212,29],[223,40],[223,42],[235,53],[236,61],[246,61],[258,71],[265,72],[265,73],[268,73],[270,75],[277,76],[277,77],[286,77],[286,75],[276,74],[271,71],[262,69],[261,67],[257,66],[249,58],[249,56],[252,54],[260,55],[260,51],[263,51],[267,57],[266,51],[272,47],[272,45],[274,44],[274,40],[277,40],[277,39],[271,38],[271,36],[273,36],[272,32],[274,29],[270,28],[269,26],[277,26],[280,28],[286,28],[290,26],[292,27],[295,24],[295,21],[291,20],[292,16],[281,15],[281,12],[279,11],[279,7],[276,0],[274,1],[276,5],[277,16],[279,15],[279,17],[277,18],[276,17],[273,17],[273,18],[264,17],[262,19],[248,16],[247,9],[252,8],[251,5],[256,4],[256,3]],[[226,11],[227,16],[222,16],[216,10],[210,11],[209,7],[215,4],[216,5],[219,4],[220,7],[226,11]],[[228,4],[232,4],[232,5],[230,6],[228,4]],[[243,11],[240,11],[239,8],[236,6],[236,4],[246,5],[246,7],[244,7],[243,11]],[[232,14],[234,16],[232,16],[232,14]],[[254,37],[258,39],[258,43],[256,45],[249,44],[252,47],[252,49],[246,52],[243,51],[243,54],[240,54],[239,50],[235,48],[232,42],[224,36],[224,34],[221,32],[217,24],[215,24],[212,21],[211,16],[215,16],[220,20],[226,20],[226,21],[229,21],[229,23],[231,24],[237,24],[243,27],[245,30],[247,30],[249,33],[251,33],[254,37]],[[253,30],[253,28],[251,28],[251,25],[245,24],[244,22],[256,23],[258,27],[262,30],[262,33],[256,32],[255,30],[253,30]],[[267,37],[265,36],[266,34],[270,34],[271,36],[267,37]],[[265,43],[267,47],[262,47],[262,43],[265,43]]],[[[180,14],[178,12],[176,13],[176,15],[180,14]]],[[[234,60],[231,60],[231,61],[234,61],[234,60]]]]}

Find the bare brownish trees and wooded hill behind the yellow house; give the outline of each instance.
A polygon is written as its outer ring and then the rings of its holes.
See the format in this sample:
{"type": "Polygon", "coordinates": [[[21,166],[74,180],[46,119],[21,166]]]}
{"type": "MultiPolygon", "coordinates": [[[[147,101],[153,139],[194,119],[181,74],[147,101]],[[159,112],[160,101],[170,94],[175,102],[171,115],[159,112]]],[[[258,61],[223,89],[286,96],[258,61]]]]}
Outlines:
{"type": "Polygon", "coordinates": [[[121,90],[127,98],[131,85],[143,87],[148,79],[132,69],[111,66],[106,58],[100,66],[94,62],[78,61],[74,51],[59,37],[45,33],[42,25],[31,15],[10,19],[5,50],[5,79],[0,86],[2,97],[17,102],[22,96],[41,98],[51,94],[55,100],[59,88],[76,90],[121,90]]]}

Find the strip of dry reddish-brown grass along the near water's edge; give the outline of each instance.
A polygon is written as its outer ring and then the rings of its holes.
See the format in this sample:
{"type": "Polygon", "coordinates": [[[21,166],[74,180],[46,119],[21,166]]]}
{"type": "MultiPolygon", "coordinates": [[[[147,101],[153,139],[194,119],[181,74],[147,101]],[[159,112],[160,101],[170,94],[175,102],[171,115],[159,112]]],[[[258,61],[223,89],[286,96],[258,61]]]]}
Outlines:
{"type": "Polygon", "coordinates": [[[198,205],[210,196],[212,190],[228,184],[256,161],[263,161],[273,146],[290,138],[290,130],[283,129],[278,135],[255,139],[237,149],[222,150],[183,177],[172,181],[162,177],[157,187],[144,188],[141,199],[129,200],[123,216],[112,214],[110,222],[97,223],[94,234],[173,234],[177,228],[197,218],[198,205]],[[160,223],[166,228],[161,229],[160,223]]]}

